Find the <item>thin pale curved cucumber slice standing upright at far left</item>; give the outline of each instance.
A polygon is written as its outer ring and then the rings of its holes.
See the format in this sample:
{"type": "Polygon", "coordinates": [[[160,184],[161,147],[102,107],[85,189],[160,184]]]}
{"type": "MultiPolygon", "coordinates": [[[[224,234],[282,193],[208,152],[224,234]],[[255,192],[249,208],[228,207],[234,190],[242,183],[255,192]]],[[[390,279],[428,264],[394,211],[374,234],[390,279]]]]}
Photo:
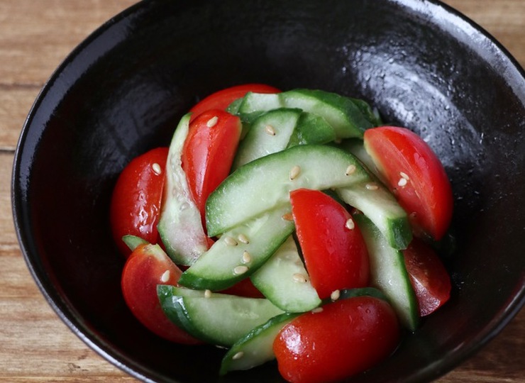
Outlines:
{"type": "Polygon", "coordinates": [[[157,225],[167,255],[178,265],[192,265],[208,248],[201,214],[182,170],[181,154],[188,135],[189,114],[182,117],[167,155],[166,184],[157,225]]]}

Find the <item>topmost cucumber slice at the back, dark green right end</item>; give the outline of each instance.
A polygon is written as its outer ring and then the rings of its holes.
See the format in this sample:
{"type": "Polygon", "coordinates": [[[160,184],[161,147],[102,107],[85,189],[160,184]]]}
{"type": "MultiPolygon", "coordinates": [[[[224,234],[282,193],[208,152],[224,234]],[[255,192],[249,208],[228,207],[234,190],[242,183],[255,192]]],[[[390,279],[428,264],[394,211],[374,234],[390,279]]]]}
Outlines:
{"type": "Polygon", "coordinates": [[[328,91],[294,89],[279,94],[249,92],[238,106],[243,121],[251,123],[262,111],[278,108],[299,108],[323,117],[333,128],[337,138],[363,137],[372,128],[376,118],[369,120],[372,109],[365,109],[365,101],[355,104],[352,99],[328,91]],[[365,111],[365,113],[363,113],[365,111]]]}

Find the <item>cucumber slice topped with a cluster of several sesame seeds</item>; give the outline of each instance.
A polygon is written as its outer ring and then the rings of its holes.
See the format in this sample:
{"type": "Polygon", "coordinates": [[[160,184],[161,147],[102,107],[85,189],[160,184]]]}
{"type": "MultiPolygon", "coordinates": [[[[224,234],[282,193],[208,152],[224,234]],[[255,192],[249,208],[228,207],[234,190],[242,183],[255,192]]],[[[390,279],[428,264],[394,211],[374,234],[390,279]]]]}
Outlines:
{"type": "Polygon", "coordinates": [[[182,273],[179,284],[192,289],[222,290],[253,274],[294,231],[283,216],[289,204],[262,213],[227,231],[182,273]]]}

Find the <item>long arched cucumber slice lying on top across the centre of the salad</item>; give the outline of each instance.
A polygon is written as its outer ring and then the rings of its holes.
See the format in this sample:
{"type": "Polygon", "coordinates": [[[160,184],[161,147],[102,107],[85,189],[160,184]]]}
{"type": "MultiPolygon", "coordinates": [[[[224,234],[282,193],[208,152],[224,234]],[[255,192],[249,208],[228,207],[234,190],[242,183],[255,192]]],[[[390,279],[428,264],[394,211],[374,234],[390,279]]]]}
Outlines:
{"type": "Polygon", "coordinates": [[[289,203],[289,191],[294,189],[348,187],[369,179],[353,155],[328,145],[297,145],[258,158],[238,168],[210,194],[206,201],[208,234],[219,235],[289,203]],[[355,171],[346,175],[349,165],[355,165],[355,171]],[[297,166],[300,174],[290,179],[290,171],[297,166]]]}

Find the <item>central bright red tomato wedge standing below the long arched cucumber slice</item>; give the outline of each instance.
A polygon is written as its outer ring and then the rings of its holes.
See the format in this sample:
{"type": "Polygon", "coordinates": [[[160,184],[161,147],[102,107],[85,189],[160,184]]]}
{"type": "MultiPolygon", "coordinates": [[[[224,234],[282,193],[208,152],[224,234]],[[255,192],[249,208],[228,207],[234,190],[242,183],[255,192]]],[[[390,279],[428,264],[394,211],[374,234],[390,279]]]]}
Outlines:
{"type": "Polygon", "coordinates": [[[367,286],[368,251],[350,213],[318,190],[294,190],[290,201],[306,270],[319,298],[338,289],[367,286]]]}

